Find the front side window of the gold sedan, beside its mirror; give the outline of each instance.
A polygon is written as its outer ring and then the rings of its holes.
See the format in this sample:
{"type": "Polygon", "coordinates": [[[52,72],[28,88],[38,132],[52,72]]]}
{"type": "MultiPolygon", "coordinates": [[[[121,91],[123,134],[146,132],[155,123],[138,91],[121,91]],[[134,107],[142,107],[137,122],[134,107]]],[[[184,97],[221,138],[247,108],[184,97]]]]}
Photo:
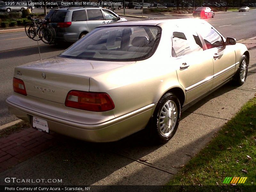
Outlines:
{"type": "Polygon", "coordinates": [[[201,23],[201,27],[198,32],[203,37],[207,49],[213,47],[220,47],[223,45],[224,41],[219,33],[217,33],[212,26],[207,23],[201,23]]]}

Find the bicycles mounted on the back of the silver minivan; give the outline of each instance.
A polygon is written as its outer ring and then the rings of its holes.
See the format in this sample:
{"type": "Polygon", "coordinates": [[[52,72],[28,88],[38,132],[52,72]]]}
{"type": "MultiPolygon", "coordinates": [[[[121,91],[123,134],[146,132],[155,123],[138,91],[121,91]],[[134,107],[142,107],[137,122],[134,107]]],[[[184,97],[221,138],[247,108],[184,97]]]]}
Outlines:
{"type": "Polygon", "coordinates": [[[50,44],[54,41],[55,30],[50,26],[49,20],[32,17],[28,19],[32,20],[32,23],[25,25],[25,32],[30,39],[34,41],[42,40],[45,44],[50,44]]]}

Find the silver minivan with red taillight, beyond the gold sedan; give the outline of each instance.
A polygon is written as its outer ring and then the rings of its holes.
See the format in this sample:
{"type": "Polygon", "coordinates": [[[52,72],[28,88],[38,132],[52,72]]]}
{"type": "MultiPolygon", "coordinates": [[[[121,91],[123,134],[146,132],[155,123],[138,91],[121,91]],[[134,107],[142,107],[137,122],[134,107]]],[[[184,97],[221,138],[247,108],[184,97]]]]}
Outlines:
{"type": "Polygon", "coordinates": [[[76,42],[100,25],[126,21],[116,13],[100,7],[53,9],[45,18],[51,20],[51,26],[55,29],[55,43],[76,42]]]}

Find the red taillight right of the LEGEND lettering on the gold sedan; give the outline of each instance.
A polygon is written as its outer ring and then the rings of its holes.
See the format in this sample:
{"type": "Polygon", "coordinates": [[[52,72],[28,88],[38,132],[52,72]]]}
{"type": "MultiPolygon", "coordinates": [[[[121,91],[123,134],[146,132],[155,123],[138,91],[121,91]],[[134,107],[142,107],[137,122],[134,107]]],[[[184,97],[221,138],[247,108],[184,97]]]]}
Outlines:
{"type": "Polygon", "coordinates": [[[86,111],[109,111],[115,105],[107,93],[70,91],[66,97],[65,106],[86,111]]]}

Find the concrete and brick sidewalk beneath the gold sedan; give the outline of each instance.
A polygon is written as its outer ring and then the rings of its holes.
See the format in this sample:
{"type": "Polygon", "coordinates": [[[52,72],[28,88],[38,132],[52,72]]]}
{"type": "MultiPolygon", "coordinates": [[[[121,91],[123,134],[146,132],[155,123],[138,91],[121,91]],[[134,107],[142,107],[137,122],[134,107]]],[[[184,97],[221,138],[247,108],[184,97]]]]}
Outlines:
{"type": "Polygon", "coordinates": [[[246,83],[237,88],[227,84],[188,108],[168,143],[153,146],[134,135],[95,144],[27,128],[0,138],[0,184],[12,176],[59,178],[62,185],[164,185],[254,97],[256,37],[239,42],[250,52],[246,83]]]}

